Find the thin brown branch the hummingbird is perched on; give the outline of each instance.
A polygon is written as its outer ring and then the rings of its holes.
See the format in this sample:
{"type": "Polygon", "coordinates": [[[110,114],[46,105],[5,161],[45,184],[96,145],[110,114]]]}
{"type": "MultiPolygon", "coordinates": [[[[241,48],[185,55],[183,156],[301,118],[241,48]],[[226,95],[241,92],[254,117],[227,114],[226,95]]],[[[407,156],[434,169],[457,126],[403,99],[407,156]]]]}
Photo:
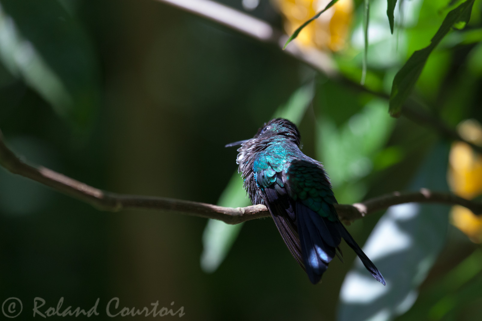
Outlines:
{"type": "MultiPolygon", "coordinates": [[[[104,211],[117,212],[126,209],[162,210],[201,218],[219,219],[228,224],[238,224],[254,218],[269,216],[269,212],[264,205],[231,208],[171,198],[104,192],[51,169],[28,165],[7,147],[3,141],[1,131],[0,165],[13,174],[35,180],[60,193],[77,198],[104,211]]],[[[391,205],[410,202],[462,205],[469,208],[475,214],[482,213],[482,203],[469,201],[448,193],[430,192],[426,189],[415,193],[396,192],[375,197],[362,203],[353,205],[339,204],[335,205],[335,207],[342,220],[353,221],[391,205]]]]}

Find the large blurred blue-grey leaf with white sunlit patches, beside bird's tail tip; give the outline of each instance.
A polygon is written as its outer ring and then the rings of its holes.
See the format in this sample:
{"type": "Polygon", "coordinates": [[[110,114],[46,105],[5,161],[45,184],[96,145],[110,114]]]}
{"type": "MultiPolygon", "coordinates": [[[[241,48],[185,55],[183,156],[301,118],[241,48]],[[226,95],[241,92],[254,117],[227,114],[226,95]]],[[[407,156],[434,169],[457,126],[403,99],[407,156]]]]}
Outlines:
{"type": "MultiPolygon", "coordinates": [[[[439,143],[428,155],[411,183],[448,191],[446,173],[449,146],[439,143]]],[[[418,286],[444,246],[450,206],[408,203],[388,208],[363,251],[382,272],[387,286],[374,280],[357,258],[340,291],[338,321],[388,321],[414,304],[418,286]]],[[[427,320],[410,319],[410,320],[427,320]]]]}

